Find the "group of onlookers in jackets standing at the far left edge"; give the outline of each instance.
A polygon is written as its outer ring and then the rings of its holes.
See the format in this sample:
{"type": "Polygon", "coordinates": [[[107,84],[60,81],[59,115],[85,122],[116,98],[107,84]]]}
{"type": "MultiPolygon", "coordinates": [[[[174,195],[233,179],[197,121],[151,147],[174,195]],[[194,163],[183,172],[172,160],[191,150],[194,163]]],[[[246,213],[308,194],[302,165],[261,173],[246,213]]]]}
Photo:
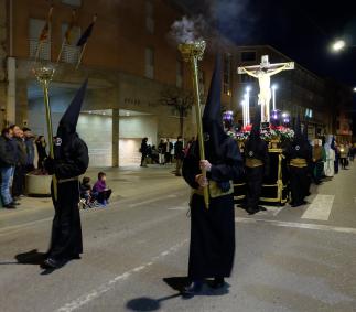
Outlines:
{"type": "Polygon", "coordinates": [[[25,193],[25,175],[35,170],[34,161],[37,152],[37,166],[43,169],[46,158],[46,143],[43,137],[35,137],[31,129],[17,125],[4,128],[0,137],[0,172],[2,206],[13,209],[20,205],[25,193]]]}

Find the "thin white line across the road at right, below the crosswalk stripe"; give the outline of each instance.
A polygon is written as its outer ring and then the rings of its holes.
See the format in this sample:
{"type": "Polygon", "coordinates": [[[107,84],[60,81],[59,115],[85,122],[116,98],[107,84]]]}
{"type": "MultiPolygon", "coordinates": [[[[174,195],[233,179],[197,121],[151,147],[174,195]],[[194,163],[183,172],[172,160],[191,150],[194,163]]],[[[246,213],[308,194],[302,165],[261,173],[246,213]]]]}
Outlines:
{"type": "Polygon", "coordinates": [[[259,219],[259,218],[241,218],[241,217],[235,218],[235,222],[245,223],[245,224],[266,223],[278,227],[292,227],[292,228],[356,234],[355,227],[339,227],[339,226],[331,226],[331,225],[323,225],[323,224],[308,224],[308,223],[294,223],[294,222],[282,222],[282,220],[259,219]]]}

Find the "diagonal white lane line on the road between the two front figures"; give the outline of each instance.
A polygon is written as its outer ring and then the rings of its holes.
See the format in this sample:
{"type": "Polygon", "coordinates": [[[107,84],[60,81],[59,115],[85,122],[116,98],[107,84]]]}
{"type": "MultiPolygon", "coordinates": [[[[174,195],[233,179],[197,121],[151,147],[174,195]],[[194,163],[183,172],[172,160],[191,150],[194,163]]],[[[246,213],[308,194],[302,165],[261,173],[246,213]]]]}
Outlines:
{"type": "Polygon", "coordinates": [[[186,243],[187,243],[187,239],[171,247],[169,250],[161,252],[159,256],[153,257],[150,262],[147,262],[147,263],[139,266],[137,268],[133,268],[120,276],[115,277],[114,279],[109,280],[108,282],[99,286],[97,289],[91,290],[90,292],[83,294],[79,298],[75,299],[74,301],[57,309],[56,312],[72,312],[72,311],[75,311],[75,310],[82,308],[85,304],[88,304],[90,301],[93,301],[93,300],[97,299],[98,297],[103,295],[104,293],[112,290],[118,282],[127,280],[131,275],[138,273],[138,272],[147,269],[148,267],[152,266],[155,261],[161,260],[162,258],[176,252],[186,243]]]}

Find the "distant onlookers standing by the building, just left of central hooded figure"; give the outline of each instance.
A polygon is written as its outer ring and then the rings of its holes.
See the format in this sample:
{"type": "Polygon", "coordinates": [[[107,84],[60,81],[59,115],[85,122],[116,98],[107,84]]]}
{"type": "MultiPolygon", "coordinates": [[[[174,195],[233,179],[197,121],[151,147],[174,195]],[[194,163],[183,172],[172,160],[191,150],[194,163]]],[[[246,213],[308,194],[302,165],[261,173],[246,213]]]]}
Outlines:
{"type": "Polygon", "coordinates": [[[192,138],[184,144],[182,136],[179,136],[176,141],[173,143],[170,139],[161,139],[158,147],[150,146],[148,143],[148,138],[142,139],[140,152],[141,152],[141,166],[148,166],[147,163],[150,161],[151,163],[165,165],[173,163],[173,159],[176,164],[176,169],[174,171],[176,176],[182,175],[182,165],[183,160],[186,153],[186,150],[190,148],[192,142],[195,141],[195,138],[192,138]]]}

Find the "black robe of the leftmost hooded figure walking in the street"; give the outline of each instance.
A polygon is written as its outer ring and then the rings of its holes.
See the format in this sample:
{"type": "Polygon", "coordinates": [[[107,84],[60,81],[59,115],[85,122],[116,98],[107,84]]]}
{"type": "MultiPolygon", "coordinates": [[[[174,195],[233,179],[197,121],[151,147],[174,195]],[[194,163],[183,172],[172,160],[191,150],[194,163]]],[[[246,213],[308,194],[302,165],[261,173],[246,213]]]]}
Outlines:
{"type": "Polygon", "coordinates": [[[89,155],[86,143],[76,135],[65,147],[55,147],[55,161],[45,162],[46,169],[54,173],[57,183],[57,200],[52,198],[55,215],[52,227],[52,239],[48,256],[56,260],[71,259],[83,252],[82,226],[79,215],[78,180],[61,183],[61,180],[73,179],[84,174],[88,168],[89,155]]]}

